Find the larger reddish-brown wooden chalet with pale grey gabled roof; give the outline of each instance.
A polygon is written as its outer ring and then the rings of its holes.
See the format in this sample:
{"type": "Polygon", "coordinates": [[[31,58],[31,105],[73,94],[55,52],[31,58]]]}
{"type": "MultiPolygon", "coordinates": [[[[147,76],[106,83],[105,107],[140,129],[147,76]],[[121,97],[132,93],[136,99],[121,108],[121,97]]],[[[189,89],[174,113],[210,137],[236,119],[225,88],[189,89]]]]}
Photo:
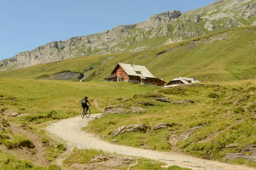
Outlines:
{"type": "Polygon", "coordinates": [[[166,82],[154,77],[143,65],[133,65],[118,63],[111,75],[105,78],[107,82],[133,82],[140,84],[150,84],[163,86],[166,82]]]}

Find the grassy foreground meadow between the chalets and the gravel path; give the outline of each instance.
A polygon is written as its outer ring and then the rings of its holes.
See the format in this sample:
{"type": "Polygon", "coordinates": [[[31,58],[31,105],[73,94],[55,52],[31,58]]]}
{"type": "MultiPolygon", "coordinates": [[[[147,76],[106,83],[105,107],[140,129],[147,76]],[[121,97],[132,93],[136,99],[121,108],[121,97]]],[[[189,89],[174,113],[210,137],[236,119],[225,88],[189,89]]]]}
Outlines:
{"type": "MultiPolygon", "coordinates": [[[[119,144],[171,151],[173,146],[168,140],[172,135],[179,136],[189,128],[204,125],[187,139],[177,141],[177,149],[205,159],[227,161],[223,159],[225,153],[242,152],[245,145],[256,144],[256,80],[217,83],[184,85],[163,90],[154,85],[125,82],[81,83],[0,78],[0,112],[8,108],[24,114],[19,117],[8,116],[6,120],[26,125],[35,133],[40,132],[40,136],[46,140],[46,135],[40,131],[46,125],[42,123],[79,116],[80,100],[89,96],[92,113],[102,113],[109,105],[124,106],[120,114],[105,114],[104,118],[93,120],[86,128],[89,132],[104,136],[105,140],[111,142],[116,139],[119,144]],[[156,93],[169,97],[170,102],[189,99],[195,103],[171,104],[148,98],[156,93]],[[157,106],[144,106],[142,102],[155,103],[157,106]],[[128,111],[131,107],[147,110],[133,113],[128,111]],[[153,127],[162,122],[177,125],[154,131],[149,128],[146,133],[132,132],[116,137],[111,135],[117,127],[123,125],[144,123],[153,127]],[[226,147],[232,143],[240,145],[235,149],[226,147]]],[[[1,136],[6,135],[9,135],[9,131],[1,132],[1,136]]],[[[1,138],[0,142],[5,144],[10,140],[13,139],[1,138]]],[[[232,162],[256,166],[247,160],[232,162]]]]}

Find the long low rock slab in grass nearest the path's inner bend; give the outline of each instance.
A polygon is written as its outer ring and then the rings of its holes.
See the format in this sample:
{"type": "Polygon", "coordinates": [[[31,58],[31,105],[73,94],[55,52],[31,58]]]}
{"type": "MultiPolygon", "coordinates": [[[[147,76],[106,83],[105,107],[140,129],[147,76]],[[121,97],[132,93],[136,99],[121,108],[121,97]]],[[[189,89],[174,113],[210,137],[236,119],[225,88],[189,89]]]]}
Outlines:
{"type": "Polygon", "coordinates": [[[148,128],[149,126],[145,124],[125,125],[125,126],[118,127],[116,130],[114,130],[113,136],[117,136],[123,133],[138,132],[138,131],[145,133],[148,128]]]}

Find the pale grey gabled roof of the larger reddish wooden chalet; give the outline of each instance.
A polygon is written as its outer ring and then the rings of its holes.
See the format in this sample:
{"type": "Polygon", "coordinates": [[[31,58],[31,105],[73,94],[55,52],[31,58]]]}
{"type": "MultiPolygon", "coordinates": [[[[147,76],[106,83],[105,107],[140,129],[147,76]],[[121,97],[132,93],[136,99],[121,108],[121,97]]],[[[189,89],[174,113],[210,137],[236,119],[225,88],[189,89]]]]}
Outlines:
{"type": "MultiPolygon", "coordinates": [[[[157,78],[154,77],[148,69],[143,66],[143,65],[131,65],[131,64],[123,64],[123,63],[118,63],[120,67],[125,71],[125,73],[128,76],[139,76],[139,77],[147,77],[147,78],[157,78]],[[137,74],[136,72],[140,72],[140,74],[137,74]]],[[[144,78],[145,79],[145,78],[144,78]]]]}

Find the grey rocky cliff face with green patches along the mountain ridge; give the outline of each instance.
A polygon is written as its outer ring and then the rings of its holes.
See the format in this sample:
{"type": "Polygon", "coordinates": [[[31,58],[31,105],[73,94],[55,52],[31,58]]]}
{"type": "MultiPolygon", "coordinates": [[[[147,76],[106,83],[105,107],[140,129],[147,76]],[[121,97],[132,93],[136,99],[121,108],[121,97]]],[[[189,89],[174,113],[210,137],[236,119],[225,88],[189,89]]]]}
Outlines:
{"type": "Polygon", "coordinates": [[[181,14],[167,11],[145,22],[54,41],[0,62],[0,71],[92,54],[142,51],[227,28],[256,25],[256,0],[218,0],[181,14]]]}

